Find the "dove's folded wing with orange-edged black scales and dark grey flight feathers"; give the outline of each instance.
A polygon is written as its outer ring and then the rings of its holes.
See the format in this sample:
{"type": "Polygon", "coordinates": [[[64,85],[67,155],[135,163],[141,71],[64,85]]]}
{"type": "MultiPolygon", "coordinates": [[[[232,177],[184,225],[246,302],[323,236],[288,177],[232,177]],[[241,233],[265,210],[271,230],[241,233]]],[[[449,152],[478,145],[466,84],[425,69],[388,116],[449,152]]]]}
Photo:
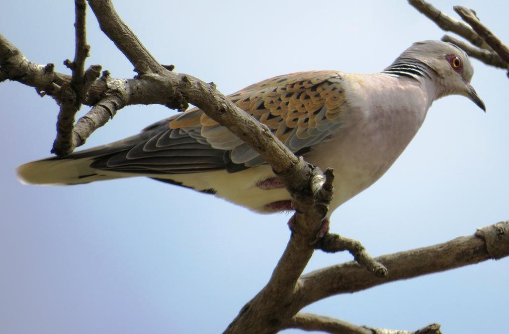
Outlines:
{"type": "MultiPolygon", "coordinates": [[[[347,107],[341,82],[335,71],[298,72],[261,81],[228,97],[293,152],[304,154],[341,127],[347,107]]],[[[114,146],[103,151],[92,167],[173,174],[234,172],[264,163],[257,151],[198,108],[147,127],[125,140],[120,150],[114,146]]]]}

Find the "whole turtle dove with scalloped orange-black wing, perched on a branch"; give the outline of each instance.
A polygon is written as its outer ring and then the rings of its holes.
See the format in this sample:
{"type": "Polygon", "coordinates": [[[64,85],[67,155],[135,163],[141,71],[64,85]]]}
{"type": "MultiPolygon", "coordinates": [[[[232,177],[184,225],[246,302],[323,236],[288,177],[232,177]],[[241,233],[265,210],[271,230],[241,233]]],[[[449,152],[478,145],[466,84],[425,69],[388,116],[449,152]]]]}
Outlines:
{"type": "MultiPolygon", "coordinates": [[[[400,156],[433,101],[463,95],[481,109],[465,52],[414,43],[380,73],[282,75],[229,96],[294,153],[334,168],[332,211],[371,186],[400,156]]],[[[292,209],[290,194],[260,155],[198,108],[132,137],[18,167],[31,184],[74,185],[131,176],[215,194],[258,212],[292,209]]]]}

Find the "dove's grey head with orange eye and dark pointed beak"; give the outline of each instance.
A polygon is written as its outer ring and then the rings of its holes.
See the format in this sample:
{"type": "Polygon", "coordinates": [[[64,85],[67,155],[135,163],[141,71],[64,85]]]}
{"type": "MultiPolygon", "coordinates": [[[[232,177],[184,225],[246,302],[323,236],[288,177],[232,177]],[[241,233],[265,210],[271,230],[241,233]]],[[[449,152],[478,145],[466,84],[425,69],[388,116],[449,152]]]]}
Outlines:
{"type": "Polygon", "coordinates": [[[416,42],[405,50],[401,57],[417,59],[435,72],[437,98],[453,94],[463,95],[486,111],[483,100],[470,84],[474,74],[470,59],[465,51],[456,45],[441,41],[416,42]]]}

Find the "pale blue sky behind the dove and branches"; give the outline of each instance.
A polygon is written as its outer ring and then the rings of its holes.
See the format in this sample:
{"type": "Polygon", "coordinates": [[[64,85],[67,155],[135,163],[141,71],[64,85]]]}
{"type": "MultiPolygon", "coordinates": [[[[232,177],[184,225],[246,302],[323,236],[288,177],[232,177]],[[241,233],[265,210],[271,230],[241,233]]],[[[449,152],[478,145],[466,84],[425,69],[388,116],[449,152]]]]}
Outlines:
{"type": "MultiPolygon", "coordinates": [[[[449,15],[458,4],[475,9],[509,43],[509,2],[435,1],[449,15]]],[[[412,42],[443,35],[403,0],[147,0],[116,1],[116,8],[160,63],[214,81],[225,94],[296,71],[381,71],[412,42]]],[[[132,77],[132,65],[88,13],[88,65],[132,77]]],[[[71,1],[9,1],[0,11],[0,32],[28,59],[65,73],[63,60],[74,56],[73,22],[71,1]]],[[[334,212],[332,232],[382,255],[509,219],[509,80],[473,65],[472,84],[487,113],[464,97],[435,102],[393,167],[334,212]]],[[[287,244],[290,216],[253,214],[146,178],[22,186],[14,169],[49,155],[58,107],[16,82],[0,83],[0,101],[0,332],[218,333],[265,285],[287,244]]],[[[124,108],[86,147],[174,112],[124,108]]],[[[306,272],[348,260],[317,252],[306,272]]],[[[491,260],[305,310],[376,327],[438,322],[446,334],[503,332],[508,275],[508,259],[491,260]]]]}

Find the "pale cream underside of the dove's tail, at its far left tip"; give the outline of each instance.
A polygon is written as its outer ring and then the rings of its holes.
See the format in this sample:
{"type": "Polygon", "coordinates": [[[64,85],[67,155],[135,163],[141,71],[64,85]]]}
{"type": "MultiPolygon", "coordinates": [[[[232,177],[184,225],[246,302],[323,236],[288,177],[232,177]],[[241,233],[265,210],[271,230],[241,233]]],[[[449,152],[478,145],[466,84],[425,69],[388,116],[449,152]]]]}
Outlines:
{"type": "Polygon", "coordinates": [[[109,174],[90,167],[93,157],[78,159],[48,158],[16,169],[21,183],[34,185],[78,185],[130,175],[109,174]]]}

